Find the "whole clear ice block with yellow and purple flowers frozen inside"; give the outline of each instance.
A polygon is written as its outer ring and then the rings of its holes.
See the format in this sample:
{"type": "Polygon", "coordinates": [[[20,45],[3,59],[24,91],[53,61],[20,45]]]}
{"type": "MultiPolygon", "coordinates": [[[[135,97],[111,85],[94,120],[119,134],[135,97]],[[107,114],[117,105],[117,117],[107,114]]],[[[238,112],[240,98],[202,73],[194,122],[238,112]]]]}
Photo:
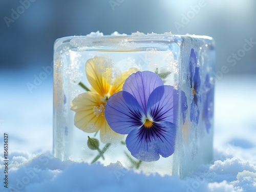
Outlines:
{"type": "Polygon", "coordinates": [[[172,33],[57,39],[54,156],[181,178],[209,163],[214,44],[172,33]]]}

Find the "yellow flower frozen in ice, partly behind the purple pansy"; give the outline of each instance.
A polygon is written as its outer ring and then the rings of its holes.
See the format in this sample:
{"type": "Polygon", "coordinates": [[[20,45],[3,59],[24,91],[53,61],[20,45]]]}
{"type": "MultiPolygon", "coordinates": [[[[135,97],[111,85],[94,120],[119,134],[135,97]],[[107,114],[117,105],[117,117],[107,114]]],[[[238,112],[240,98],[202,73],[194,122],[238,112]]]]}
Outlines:
{"type": "Polygon", "coordinates": [[[79,94],[71,102],[71,110],[75,112],[74,124],[87,133],[100,131],[100,139],[104,143],[123,138],[114,132],[104,116],[105,104],[109,97],[122,90],[127,77],[138,71],[136,68],[121,73],[113,78],[112,67],[104,66],[105,59],[95,56],[86,62],[86,76],[91,84],[91,91],[79,94]]]}

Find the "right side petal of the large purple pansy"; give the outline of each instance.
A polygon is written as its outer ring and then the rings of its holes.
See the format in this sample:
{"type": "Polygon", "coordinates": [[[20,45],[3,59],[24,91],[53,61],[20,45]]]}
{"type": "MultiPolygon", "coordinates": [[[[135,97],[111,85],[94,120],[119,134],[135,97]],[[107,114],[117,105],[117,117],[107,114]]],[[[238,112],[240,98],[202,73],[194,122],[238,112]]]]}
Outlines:
{"type": "Polygon", "coordinates": [[[155,122],[174,122],[174,88],[172,86],[156,88],[148,98],[147,113],[155,122]]]}

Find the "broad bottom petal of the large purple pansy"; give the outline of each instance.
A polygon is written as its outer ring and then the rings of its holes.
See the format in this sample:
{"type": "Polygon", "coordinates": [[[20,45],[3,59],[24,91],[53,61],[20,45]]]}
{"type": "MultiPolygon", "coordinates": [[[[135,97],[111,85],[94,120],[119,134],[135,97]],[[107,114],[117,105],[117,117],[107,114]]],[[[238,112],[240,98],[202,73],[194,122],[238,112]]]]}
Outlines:
{"type": "Polygon", "coordinates": [[[175,124],[164,121],[153,123],[151,127],[143,125],[140,129],[133,130],[125,142],[135,158],[142,161],[157,161],[159,155],[168,157],[174,153],[175,136],[175,124]]]}

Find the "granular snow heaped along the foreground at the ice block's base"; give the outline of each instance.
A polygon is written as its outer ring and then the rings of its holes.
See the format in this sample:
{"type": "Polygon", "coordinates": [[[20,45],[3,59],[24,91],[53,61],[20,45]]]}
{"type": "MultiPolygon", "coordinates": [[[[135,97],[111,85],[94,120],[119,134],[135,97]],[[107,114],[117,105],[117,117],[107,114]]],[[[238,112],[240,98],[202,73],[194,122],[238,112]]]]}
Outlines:
{"type": "MultiPolygon", "coordinates": [[[[60,161],[50,153],[31,156],[10,155],[10,191],[256,191],[256,166],[237,157],[204,165],[194,175],[181,180],[178,176],[136,174],[118,162],[104,167],[60,161]]],[[[5,188],[1,185],[0,189],[5,188]]]]}

